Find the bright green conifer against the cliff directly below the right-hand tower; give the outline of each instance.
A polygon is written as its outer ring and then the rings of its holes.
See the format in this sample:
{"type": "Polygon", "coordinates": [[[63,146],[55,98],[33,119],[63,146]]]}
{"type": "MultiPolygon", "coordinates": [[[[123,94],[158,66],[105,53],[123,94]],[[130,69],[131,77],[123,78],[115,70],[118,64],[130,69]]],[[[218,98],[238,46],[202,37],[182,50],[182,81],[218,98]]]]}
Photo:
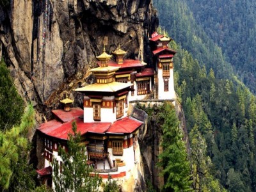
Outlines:
{"type": "Polygon", "coordinates": [[[159,111],[157,116],[163,131],[163,152],[159,154],[158,166],[163,167],[163,191],[190,191],[191,168],[175,109],[172,104],[165,103],[159,111]]]}

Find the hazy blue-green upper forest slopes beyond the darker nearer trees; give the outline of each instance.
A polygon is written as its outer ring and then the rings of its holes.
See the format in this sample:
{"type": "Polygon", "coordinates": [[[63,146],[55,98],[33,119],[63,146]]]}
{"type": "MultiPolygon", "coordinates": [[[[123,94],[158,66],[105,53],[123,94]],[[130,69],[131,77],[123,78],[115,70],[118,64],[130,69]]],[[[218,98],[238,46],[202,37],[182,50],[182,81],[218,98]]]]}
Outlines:
{"type": "Polygon", "coordinates": [[[232,65],[239,79],[256,92],[256,2],[160,0],[154,6],[160,25],[207,70],[229,78],[232,65]]]}

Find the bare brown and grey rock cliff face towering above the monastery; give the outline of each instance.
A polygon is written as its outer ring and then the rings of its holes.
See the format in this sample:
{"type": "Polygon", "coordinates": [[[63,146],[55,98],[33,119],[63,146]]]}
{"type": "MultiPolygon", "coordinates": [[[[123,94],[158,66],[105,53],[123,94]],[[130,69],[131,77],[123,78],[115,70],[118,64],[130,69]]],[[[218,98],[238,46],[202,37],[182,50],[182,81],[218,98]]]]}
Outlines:
{"type": "Polygon", "coordinates": [[[109,53],[120,44],[128,58],[150,64],[148,36],[157,22],[150,0],[10,0],[0,3],[0,54],[19,93],[48,115],[65,90],[92,81],[88,69],[103,44],[109,53]]]}

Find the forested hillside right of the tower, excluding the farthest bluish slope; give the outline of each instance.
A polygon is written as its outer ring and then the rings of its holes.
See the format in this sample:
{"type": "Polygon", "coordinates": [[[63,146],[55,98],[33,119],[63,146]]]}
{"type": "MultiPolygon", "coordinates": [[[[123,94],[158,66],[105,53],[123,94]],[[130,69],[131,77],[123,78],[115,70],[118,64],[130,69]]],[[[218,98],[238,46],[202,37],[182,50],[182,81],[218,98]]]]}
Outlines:
{"type": "Polygon", "coordinates": [[[172,45],[177,50],[175,90],[187,120],[193,188],[255,191],[255,96],[234,76],[223,49],[197,24],[184,1],[154,4],[160,25],[179,44],[172,45]]]}

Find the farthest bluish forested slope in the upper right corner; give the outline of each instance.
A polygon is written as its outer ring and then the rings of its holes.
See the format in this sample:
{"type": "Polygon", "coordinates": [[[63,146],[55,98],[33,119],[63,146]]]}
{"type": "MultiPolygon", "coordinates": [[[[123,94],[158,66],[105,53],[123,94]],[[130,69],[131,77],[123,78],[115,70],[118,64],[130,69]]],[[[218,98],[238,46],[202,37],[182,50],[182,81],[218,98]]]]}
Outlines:
{"type": "Polygon", "coordinates": [[[243,83],[256,92],[256,1],[186,0],[195,20],[221,47],[243,83]]]}

